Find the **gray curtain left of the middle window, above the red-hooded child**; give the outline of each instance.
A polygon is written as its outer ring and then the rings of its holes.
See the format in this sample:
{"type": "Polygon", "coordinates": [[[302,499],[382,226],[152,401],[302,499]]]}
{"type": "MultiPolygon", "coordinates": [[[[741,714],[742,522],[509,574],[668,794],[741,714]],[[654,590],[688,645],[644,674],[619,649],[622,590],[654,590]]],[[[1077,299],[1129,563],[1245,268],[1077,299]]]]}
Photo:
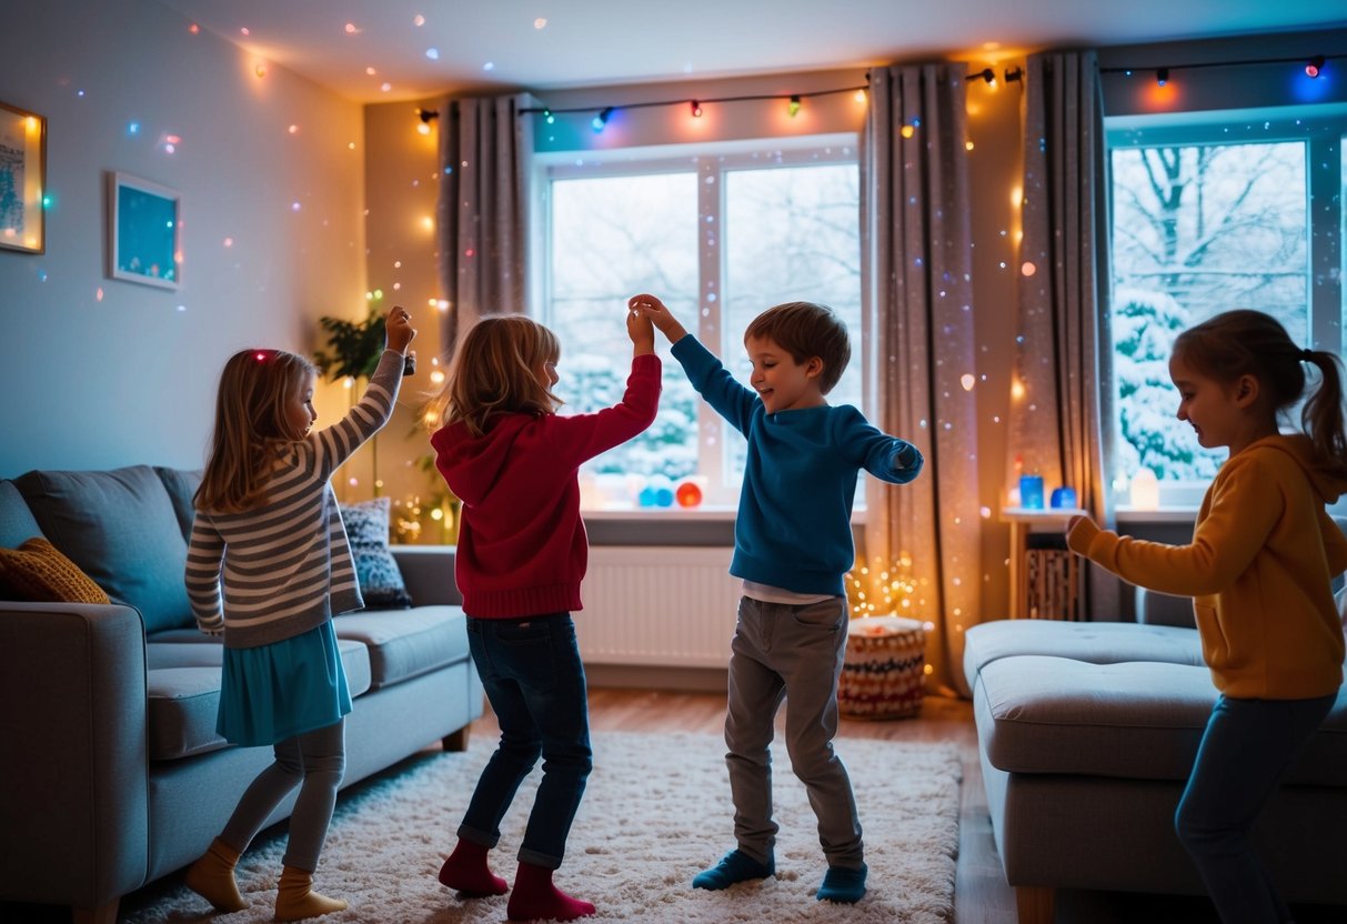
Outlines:
{"type": "Polygon", "coordinates": [[[527,94],[446,100],[439,114],[442,362],[478,318],[527,308],[524,251],[533,120],[527,94]]]}

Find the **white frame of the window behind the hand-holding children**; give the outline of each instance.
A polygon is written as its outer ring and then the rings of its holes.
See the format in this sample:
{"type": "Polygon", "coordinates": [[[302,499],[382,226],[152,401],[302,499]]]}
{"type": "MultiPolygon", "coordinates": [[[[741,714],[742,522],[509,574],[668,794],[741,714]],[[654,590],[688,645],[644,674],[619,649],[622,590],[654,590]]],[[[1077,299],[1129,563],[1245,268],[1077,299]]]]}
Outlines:
{"type": "MultiPolygon", "coordinates": [[[[687,325],[702,343],[707,346],[726,368],[735,366],[735,357],[729,352],[737,346],[726,339],[727,329],[722,323],[726,300],[707,300],[706,292],[725,292],[726,252],[723,246],[726,213],[725,178],[730,172],[746,170],[770,170],[785,167],[810,167],[830,164],[854,164],[859,170],[859,133],[831,132],[800,135],[791,137],[762,137],[718,140],[691,144],[633,145],[601,151],[547,151],[532,156],[529,176],[529,241],[537,259],[529,260],[529,304],[531,314],[551,326],[554,321],[551,304],[551,224],[552,224],[552,183],[564,179],[598,176],[638,176],[668,172],[692,172],[698,178],[698,312],[696,327],[687,325]],[[707,182],[709,178],[715,182],[707,182]],[[706,222],[706,216],[714,221],[706,222]]],[[[861,238],[861,216],[857,210],[857,240],[861,238]]],[[[733,232],[731,232],[733,233],[733,232]]],[[[861,312],[861,338],[867,334],[866,312],[861,312]]],[[[866,350],[854,350],[853,361],[861,364],[861,393],[857,404],[865,411],[863,403],[870,395],[870,362],[866,350]]],[[[674,508],[632,508],[630,510],[585,510],[586,516],[644,517],[644,516],[733,516],[738,506],[740,482],[726,482],[729,440],[725,438],[729,424],[706,401],[696,403],[696,458],[698,471],[707,480],[706,500],[696,510],[674,508]],[[717,439],[709,446],[707,435],[717,439]]],[[[863,482],[857,490],[854,520],[863,517],[863,482]]]]}

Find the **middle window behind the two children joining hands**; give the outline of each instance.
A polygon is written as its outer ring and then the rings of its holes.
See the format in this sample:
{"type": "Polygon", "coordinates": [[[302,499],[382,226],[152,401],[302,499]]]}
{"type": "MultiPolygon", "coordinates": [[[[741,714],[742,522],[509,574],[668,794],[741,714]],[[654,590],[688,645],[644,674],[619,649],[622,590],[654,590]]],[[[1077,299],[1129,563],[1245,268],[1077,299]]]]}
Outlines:
{"type": "MultiPolygon", "coordinates": [[[[607,407],[630,368],[626,300],[659,295],[745,384],[744,330],[788,300],[831,306],[861,337],[859,176],[851,137],[696,151],[540,155],[535,242],[541,319],[562,341],[566,412],[607,407]]],[[[696,396],[657,335],[664,392],[655,424],[590,462],[587,506],[630,506],[651,484],[696,478],[733,505],[745,442],[696,396]]],[[[861,350],[830,403],[861,404],[861,350]]]]}

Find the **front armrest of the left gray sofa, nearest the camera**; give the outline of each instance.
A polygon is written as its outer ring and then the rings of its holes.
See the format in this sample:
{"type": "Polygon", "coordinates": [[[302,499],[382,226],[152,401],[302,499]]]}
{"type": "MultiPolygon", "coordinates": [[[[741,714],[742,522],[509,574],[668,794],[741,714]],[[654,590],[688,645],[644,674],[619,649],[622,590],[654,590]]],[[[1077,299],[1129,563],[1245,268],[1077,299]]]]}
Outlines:
{"type": "Polygon", "coordinates": [[[0,898],[97,908],[144,884],[145,633],[131,606],[0,602],[0,898]]]}

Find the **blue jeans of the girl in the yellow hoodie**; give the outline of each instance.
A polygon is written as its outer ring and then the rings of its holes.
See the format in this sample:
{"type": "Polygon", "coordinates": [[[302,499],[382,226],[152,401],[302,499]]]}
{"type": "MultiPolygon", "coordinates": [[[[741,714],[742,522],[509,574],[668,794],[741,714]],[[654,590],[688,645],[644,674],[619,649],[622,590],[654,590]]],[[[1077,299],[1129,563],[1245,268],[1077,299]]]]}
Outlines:
{"type": "Polygon", "coordinates": [[[1220,696],[1211,710],[1175,827],[1224,924],[1290,920],[1249,828],[1336,699],[1220,696]]]}

